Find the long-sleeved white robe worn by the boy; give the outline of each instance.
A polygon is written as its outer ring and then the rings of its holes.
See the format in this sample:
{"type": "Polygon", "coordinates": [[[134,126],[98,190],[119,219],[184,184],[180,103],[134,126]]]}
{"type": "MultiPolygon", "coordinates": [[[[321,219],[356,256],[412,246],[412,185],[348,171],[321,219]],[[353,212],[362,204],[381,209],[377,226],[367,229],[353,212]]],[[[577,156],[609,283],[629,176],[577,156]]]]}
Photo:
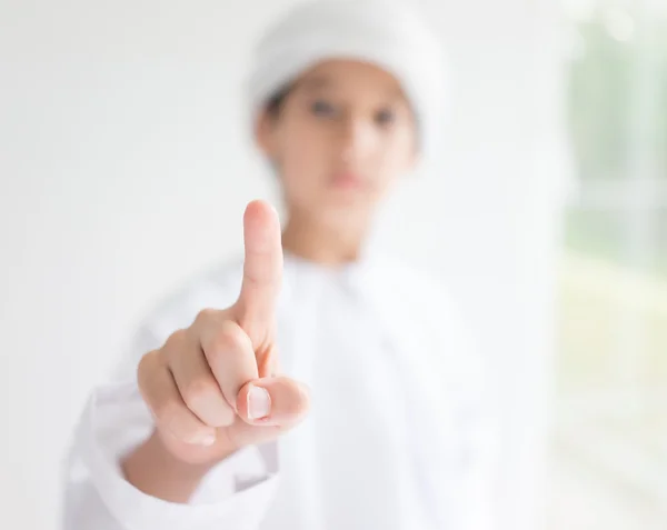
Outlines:
{"type": "Polygon", "coordinates": [[[143,323],[120,382],[99,387],[68,459],[64,530],[487,530],[494,476],[480,363],[447,294],[378,256],[338,270],[287,256],[277,304],[285,373],[311,411],[245,448],[187,504],[125,481],[119,461],[151,430],[140,357],[202,308],[238,296],[241,264],[196,279],[143,323]]]}

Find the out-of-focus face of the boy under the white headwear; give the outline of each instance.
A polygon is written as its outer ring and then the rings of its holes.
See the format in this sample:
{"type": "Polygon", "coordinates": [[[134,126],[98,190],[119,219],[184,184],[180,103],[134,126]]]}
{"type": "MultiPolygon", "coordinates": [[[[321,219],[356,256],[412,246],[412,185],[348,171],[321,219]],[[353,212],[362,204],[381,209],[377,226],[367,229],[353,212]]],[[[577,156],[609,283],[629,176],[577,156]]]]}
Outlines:
{"type": "Polygon", "coordinates": [[[367,220],[416,160],[416,123],[398,81],[348,60],[301,76],[257,139],[278,169],[289,210],[328,226],[367,220]]]}

